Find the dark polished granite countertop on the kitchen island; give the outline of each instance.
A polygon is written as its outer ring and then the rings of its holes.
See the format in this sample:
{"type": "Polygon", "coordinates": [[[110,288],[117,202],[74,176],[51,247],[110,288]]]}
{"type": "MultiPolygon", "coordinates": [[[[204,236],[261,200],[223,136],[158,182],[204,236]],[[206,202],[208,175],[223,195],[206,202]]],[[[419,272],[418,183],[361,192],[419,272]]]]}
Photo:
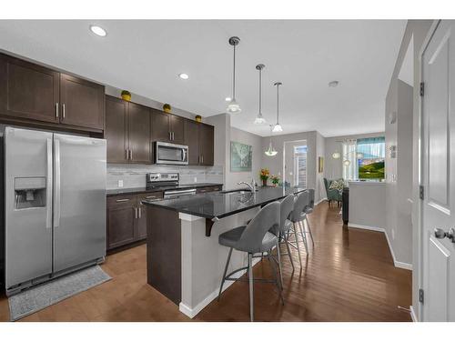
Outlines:
{"type": "Polygon", "coordinates": [[[235,215],[253,207],[263,206],[288,195],[297,194],[305,188],[299,187],[259,187],[254,194],[248,190],[220,191],[201,193],[195,196],[181,196],[159,201],[143,200],[150,206],[162,207],[192,216],[208,219],[235,215]]]}

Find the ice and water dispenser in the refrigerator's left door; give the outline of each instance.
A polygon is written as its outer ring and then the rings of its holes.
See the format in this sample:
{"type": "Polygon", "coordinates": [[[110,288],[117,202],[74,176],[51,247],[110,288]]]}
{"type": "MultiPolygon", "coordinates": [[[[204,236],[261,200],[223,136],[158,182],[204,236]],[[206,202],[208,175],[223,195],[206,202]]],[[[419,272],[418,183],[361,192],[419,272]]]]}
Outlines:
{"type": "Polygon", "coordinates": [[[45,206],[45,176],[15,177],[15,209],[45,206]]]}

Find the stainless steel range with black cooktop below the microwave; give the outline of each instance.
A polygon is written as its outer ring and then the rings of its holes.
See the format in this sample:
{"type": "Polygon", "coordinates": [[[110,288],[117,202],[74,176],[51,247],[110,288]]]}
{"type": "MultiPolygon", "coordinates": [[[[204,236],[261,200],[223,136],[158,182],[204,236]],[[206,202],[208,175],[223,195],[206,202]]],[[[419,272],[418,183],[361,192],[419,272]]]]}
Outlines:
{"type": "Polygon", "coordinates": [[[179,188],[178,173],[147,173],[147,189],[163,191],[164,199],[196,195],[196,188],[179,188]]]}

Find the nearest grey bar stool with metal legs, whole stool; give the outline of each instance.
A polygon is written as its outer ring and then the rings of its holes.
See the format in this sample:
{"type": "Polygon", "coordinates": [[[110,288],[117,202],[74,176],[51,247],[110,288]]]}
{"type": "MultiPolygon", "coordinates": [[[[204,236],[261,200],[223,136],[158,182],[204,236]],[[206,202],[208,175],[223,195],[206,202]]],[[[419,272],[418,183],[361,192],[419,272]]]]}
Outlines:
{"type": "Polygon", "coordinates": [[[277,228],[276,226],[279,225],[279,209],[280,205],[278,201],[270,203],[262,207],[258,214],[248,222],[248,225],[238,226],[219,235],[218,237],[218,243],[220,245],[229,247],[229,254],[227,256],[225,270],[223,277],[221,278],[221,286],[219,286],[218,301],[221,297],[221,292],[223,290],[225,281],[244,281],[243,278],[233,278],[231,276],[238,273],[239,271],[248,270],[248,279],[245,281],[248,280],[249,282],[249,317],[251,321],[254,320],[253,284],[255,281],[275,283],[278,287],[278,293],[281,302],[284,304],[284,299],[281,292],[282,288],[277,275],[277,272],[281,272],[279,252],[278,261],[275,259],[270,259],[272,257],[272,248],[274,246],[278,246],[278,237],[273,233],[268,232],[270,229],[277,228]],[[237,270],[234,270],[230,274],[226,275],[227,267],[229,266],[229,261],[233,249],[248,253],[248,266],[240,267],[237,270]],[[253,278],[253,256],[255,254],[262,253],[267,253],[270,265],[273,267],[273,274],[275,277],[274,280],[253,278]],[[275,262],[278,263],[278,269],[276,268],[275,262]]]}

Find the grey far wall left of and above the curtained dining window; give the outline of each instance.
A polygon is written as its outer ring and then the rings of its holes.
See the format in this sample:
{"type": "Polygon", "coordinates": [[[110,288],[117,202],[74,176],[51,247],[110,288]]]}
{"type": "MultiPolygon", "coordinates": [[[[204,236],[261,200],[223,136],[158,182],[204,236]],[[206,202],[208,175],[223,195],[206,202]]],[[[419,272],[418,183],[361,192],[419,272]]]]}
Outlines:
{"type": "Polygon", "coordinates": [[[343,136],[334,136],[326,137],[326,167],[324,170],[324,175],[329,179],[337,179],[343,177],[343,157],[339,159],[334,159],[332,154],[339,152],[343,154],[343,147],[341,145],[342,140],[345,139],[358,139],[366,137],[378,137],[385,136],[384,132],[371,133],[371,134],[362,134],[362,135],[343,135],[343,136]]]}

